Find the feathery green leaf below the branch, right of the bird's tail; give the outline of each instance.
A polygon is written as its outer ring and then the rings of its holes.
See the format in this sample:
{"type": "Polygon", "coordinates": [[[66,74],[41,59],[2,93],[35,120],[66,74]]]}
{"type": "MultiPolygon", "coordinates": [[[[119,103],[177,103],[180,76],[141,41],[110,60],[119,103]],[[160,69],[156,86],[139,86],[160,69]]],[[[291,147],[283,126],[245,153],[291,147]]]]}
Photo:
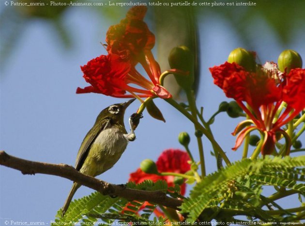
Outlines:
{"type": "MultiPolygon", "coordinates": [[[[163,191],[165,193],[168,191],[168,184],[165,180],[158,180],[155,183],[151,180],[145,180],[140,184],[129,182],[126,184],[126,187],[145,191],[163,191]]],[[[179,189],[178,187],[175,187],[174,191],[179,189]]],[[[61,210],[59,210],[56,214],[57,219],[55,219],[55,222],[58,224],[66,223],[70,225],[71,221],[75,223],[79,221],[96,222],[98,219],[102,219],[106,224],[111,225],[111,222],[115,219],[122,219],[122,221],[127,219],[126,217],[122,217],[122,210],[124,210],[124,215],[129,217],[127,220],[130,221],[130,219],[138,217],[136,213],[142,208],[143,203],[144,202],[139,201],[128,202],[124,198],[111,198],[108,195],[94,192],[71,202],[64,217],[61,217],[61,210]],[[129,210],[125,210],[126,205],[129,210]]],[[[147,213],[144,213],[146,215],[141,217],[141,219],[148,219],[155,208],[156,206],[152,204],[147,205],[143,210],[147,213]]]]}

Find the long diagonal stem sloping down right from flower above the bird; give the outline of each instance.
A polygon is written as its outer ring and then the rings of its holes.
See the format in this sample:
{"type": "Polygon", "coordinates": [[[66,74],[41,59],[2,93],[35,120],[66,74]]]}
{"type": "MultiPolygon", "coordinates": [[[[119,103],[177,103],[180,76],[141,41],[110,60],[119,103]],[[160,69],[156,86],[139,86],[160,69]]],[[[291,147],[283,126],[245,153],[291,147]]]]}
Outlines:
{"type": "Polygon", "coordinates": [[[224,159],[227,165],[231,165],[231,162],[229,161],[227,155],[223,151],[223,149],[219,146],[219,144],[214,140],[211,133],[205,129],[197,120],[193,118],[193,116],[188,113],[180,104],[178,104],[175,100],[172,98],[165,99],[171,106],[176,108],[179,112],[181,112],[185,117],[187,117],[192,123],[196,124],[198,128],[202,131],[202,133],[206,136],[206,138],[209,139],[209,141],[212,143],[212,145],[215,145],[216,150],[219,152],[221,157],[224,159]]]}

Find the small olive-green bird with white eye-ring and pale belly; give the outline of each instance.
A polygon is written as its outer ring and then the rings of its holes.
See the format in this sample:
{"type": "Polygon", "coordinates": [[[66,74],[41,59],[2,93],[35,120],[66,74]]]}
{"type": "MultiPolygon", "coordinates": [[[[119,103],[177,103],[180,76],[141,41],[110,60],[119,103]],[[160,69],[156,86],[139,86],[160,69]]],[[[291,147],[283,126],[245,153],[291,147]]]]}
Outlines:
{"type": "MultiPolygon", "coordinates": [[[[126,108],[134,101],[131,99],[120,104],[113,104],[105,108],[96,118],[96,121],[81,143],[75,168],[80,173],[95,177],[110,169],[120,158],[128,141],[134,141],[134,129],[142,115],[133,114],[129,118],[131,132],[127,134],[124,126],[124,113],[126,108]]],[[[80,187],[74,182],[71,191],[61,209],[64,216],[73,195],[80,187]]]]}

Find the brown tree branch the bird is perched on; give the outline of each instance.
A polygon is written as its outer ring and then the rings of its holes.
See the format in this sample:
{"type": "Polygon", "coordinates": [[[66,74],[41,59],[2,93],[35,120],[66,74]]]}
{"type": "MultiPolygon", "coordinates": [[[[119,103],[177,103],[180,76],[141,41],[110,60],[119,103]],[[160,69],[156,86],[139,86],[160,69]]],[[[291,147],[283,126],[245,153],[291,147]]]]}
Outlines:
{"type": "Polygon", "coordinates": [[[115,195],[129,201],[149,201],[161,206],[179,210],[182,200],[168,197],[163,192],[150,192],[125,188],[120,185],[110,184],[103,180],[93,178],[78,172],[74,167],[67,164],[50,164],[38,161],[19,159],[0,151],[0,165],[4,165],[21,171],[22,174],[48,174],[75,181],[88,188],[92,188],[104,195],[115,195]]]}

